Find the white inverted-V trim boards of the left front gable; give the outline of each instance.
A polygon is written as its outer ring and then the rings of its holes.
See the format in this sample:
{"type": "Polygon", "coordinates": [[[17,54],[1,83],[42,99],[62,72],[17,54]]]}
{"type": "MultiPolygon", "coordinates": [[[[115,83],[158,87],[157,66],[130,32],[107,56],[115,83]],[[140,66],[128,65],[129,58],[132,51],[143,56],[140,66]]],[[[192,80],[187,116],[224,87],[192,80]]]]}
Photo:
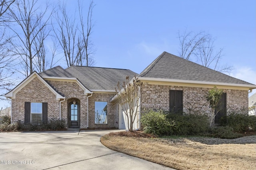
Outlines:
{"type": "Polygon", "coordinates": [[[56,100],[65,98],[64,96],[59,94],[56,90],[54,90],[54,88],[52,88],[52,86],[50,86],[36,71],[30,74],[30,76],[28,76],[25,80],[23,80],[20,84],[18,84],[18,86],[16,86],[10,92],[5,94],[5,97],[15,99],[16,93],[19,92],[24,86],[26,86],[35,77],[37,77],[47,88],[49,88],[49,90],[52,91],[53,94],[56,95],[56,100]]]}

